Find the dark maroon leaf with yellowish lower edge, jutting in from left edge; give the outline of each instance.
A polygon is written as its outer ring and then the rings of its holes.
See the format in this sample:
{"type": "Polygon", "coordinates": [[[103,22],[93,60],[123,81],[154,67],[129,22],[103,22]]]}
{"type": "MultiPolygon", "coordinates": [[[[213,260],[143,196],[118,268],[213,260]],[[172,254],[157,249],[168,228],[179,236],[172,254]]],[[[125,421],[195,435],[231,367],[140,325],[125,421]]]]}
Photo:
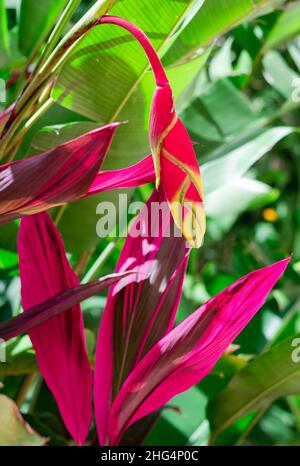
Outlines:
{"type": "Polygon", "coordinates": [[[0,166],[0,224],[75,201],[101,167],[118,123],[0,166]]]}

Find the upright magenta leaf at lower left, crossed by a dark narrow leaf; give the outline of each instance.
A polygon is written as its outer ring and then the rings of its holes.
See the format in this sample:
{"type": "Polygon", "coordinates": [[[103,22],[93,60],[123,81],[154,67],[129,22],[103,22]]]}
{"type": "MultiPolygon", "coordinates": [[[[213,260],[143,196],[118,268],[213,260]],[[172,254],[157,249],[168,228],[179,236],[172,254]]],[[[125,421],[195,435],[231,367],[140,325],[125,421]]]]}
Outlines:
{"type": "MultiPolygon", "coordinates": [[[[26,309],[79,285],[47,212],[21,220],[18,253],[25,314],[26,309]]],[[[64,423],[82,445],[92,421],[92,371],[80,306],[74,305],[36,326],[29,336],[64,423]]]]}

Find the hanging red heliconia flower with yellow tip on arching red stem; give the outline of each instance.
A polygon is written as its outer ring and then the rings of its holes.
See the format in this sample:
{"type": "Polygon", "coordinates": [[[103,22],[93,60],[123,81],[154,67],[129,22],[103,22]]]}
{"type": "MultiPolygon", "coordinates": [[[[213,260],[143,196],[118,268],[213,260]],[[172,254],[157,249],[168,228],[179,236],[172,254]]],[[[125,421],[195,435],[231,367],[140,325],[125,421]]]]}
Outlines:
{"type": "Polygon", "coordinates": [[[176,115],[163,66],[147,36],[132,23],[114,16],[103,16],[98,23],[123,27],[140,42],[148,56],[157,86],[149,128],[156,187],[162,183],[177,227],[192,246],[199,247],[205,233],[202,180],[192,142],[176,115]]]}

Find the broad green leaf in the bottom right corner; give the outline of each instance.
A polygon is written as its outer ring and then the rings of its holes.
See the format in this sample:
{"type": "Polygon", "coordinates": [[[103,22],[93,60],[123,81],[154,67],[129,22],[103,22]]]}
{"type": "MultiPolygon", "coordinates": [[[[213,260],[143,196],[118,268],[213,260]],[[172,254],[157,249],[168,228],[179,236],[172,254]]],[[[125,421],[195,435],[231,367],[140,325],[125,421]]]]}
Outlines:
{"type": "Polygon", "coordinates": [[[209,419],[215,439],[226,427],[281,396],[300,393],[299,334],[286,338],[239,371],[228,387],[213,398],[209,419]],[[295,342],[293,344],[293,342],[295,342]],[[297,359],[298,360],[298,359],[297,359]]]}

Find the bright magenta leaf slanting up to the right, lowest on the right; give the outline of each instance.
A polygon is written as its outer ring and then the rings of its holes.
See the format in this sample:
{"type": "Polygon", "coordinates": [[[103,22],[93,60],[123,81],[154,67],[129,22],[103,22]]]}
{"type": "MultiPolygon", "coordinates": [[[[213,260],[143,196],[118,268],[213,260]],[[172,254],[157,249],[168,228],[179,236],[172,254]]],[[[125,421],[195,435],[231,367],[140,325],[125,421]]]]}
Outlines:
{"type": "MultiPolygon", "coordinates": [[[[100,442],[118,445],[126,429],[133,423],[202,380],[264,304],[289,260],[282,260],[242,277],[154,344],[130,371],[115,394],[108,420],[105,406],[101,410],[101,406],[95,405],[96,410],[100,410],[96,412],[100,442]],[[101,418],[103,413],[104,417],[101,418]]],[[[108,299],[113,298],[109,295],[108,299]]],[[[131,297],[131,308],[134,308],[135,302],[131,297]]],[[[109,301],[107,306],[110,306],[109,301]]],[[[115,312],[123,306],[124,297],[119,303],[114,303],[115,312]]],[[[118,316],[117,321],[122,318],[118,316]]],[[[115,324],[101,345],[102,351],[107,346],[106,354],[111,351],[111,341],[117,329],[115,324]]],[[[126,335],[123,338],[126,340],[126,335]]],[[[96,386],[97,378],[105,380],[105,373],[110,380],[111,368],[105,368],[102,364],[95,373],[96,386]],[[102,374],[99,374],[99,370],[102,374]]],[[[95,395],[98,396],[98,391],[95,395]]]]}

